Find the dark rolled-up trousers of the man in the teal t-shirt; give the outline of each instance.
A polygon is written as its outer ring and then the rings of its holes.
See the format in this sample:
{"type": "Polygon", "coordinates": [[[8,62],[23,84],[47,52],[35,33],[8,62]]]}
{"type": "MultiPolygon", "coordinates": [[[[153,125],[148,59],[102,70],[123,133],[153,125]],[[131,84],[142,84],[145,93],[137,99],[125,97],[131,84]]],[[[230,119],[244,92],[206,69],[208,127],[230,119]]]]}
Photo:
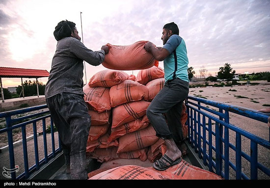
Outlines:
{"type": "Polygon", "coordinates": [[[162,90],[151,102],[146,114],[158,137],[173,138],[177,144],[183,141],[181,111],[183,101],[188,94],[189,83],[176,78],[166,81],[162,90]]]}

